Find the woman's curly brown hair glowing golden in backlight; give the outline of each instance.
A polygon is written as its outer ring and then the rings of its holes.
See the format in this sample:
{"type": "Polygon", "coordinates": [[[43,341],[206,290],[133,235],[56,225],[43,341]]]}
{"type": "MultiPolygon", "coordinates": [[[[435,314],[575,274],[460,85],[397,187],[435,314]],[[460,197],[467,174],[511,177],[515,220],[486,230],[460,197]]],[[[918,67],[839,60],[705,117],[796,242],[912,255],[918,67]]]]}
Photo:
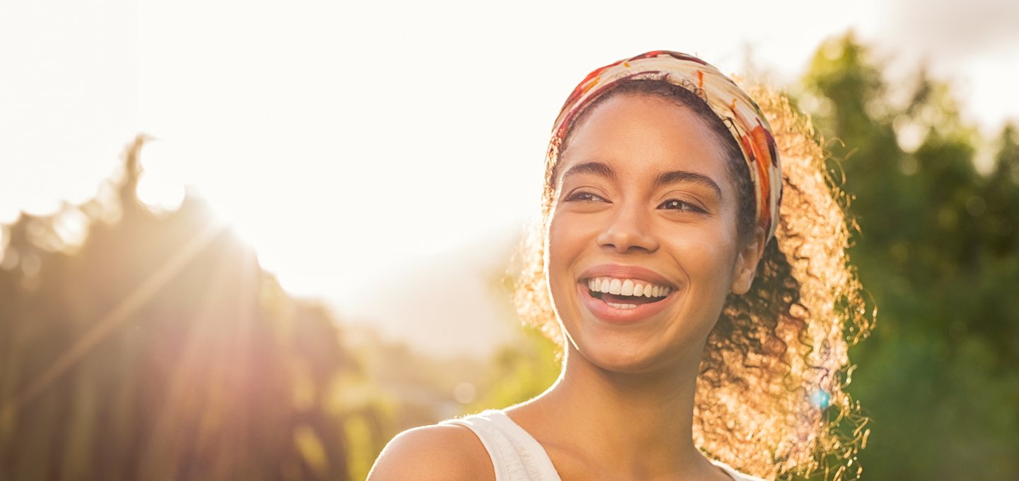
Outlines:
{"type": "MultiPolygon", "coordinates": [[[[825,154],[808,118],[784,96],[751,88],[772,126],[783,159],[780,223],[764,248],[748,292],[730,293],[701,358],[693,435],[708,456],[763,478],[859,475],[866,418],[843,389],[848,346],[870,331],[873,313],[846,256],[846,199],[824,169],[825,154]]],[[[664,79],[621,82],[585,107],[545,160],[542,221],[522,245],[524,268],[515,301],[525,322],[565,345],[552,311],[544,251],[555,195],[556,164],[571,130],[616,95],[659,97],[690,108],[716,133],[727,172],[739,191],[739,234],[754,229],[756,200],[742,151],[694,86],[664,79]]],[[[746,238],[746,237],[745,237],[746,238]]]]}

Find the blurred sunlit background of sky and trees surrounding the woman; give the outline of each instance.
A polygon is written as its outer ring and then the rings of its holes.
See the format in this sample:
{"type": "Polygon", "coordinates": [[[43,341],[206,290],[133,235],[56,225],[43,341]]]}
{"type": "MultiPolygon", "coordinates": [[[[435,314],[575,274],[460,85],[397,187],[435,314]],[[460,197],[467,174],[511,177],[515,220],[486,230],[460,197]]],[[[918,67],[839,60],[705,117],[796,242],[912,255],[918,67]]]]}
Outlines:
{"type": "Polygon", "coordinates": [[[862,479],[1019,479],[1017,22],[0,1],[0,479],[361,480],[401,430],[541,392],[555,346],[508,296],[548,129],[662,48],[785,90],[832,153],[878,308],[862,479]]]}

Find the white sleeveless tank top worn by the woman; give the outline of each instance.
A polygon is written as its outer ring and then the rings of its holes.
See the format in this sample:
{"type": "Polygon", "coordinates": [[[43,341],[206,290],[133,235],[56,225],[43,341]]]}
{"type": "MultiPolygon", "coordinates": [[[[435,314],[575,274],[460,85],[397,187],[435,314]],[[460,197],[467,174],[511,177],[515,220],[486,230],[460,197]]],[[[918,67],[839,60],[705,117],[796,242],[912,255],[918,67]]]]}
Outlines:
{"type": "MultiPolygon", "coordinates": [[[[495,481],[561,481],[541,444],[501,411],[484,411],[440,424],[467,427],[481,439],[495,468],[495,481]]],[[[711,461],[735,481],[764,481],[711,461]]]]}

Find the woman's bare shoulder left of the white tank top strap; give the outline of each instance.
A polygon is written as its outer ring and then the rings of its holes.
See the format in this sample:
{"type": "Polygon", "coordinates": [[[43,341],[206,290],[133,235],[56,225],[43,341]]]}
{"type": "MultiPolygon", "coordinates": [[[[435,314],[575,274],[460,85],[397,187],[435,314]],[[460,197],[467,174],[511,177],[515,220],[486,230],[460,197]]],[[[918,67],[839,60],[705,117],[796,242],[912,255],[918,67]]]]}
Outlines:
{"type": "Polygon", "coordinates": [[[436,425],[404,431],[385,446],[369,481],[495,480],[484,444],[470,429],[436,425]]]}

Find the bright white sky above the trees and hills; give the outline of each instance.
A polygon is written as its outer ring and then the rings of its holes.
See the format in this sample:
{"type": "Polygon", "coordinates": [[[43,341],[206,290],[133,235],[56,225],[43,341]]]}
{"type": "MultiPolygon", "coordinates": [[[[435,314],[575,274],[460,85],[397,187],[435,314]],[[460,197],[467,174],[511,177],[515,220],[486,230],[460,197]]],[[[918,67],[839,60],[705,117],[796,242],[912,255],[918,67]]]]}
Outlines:
{"type": "Polygon", "coordinates": [[[926,59],[986,132],[1019,118],[1019,2],[0,2],[0,222],[83,202],[137,132],[143,200],[207,198],[284,287],[354,312],[514,232],[594,67],[647,50],[781,82],[855,29],[926,59]]]}

